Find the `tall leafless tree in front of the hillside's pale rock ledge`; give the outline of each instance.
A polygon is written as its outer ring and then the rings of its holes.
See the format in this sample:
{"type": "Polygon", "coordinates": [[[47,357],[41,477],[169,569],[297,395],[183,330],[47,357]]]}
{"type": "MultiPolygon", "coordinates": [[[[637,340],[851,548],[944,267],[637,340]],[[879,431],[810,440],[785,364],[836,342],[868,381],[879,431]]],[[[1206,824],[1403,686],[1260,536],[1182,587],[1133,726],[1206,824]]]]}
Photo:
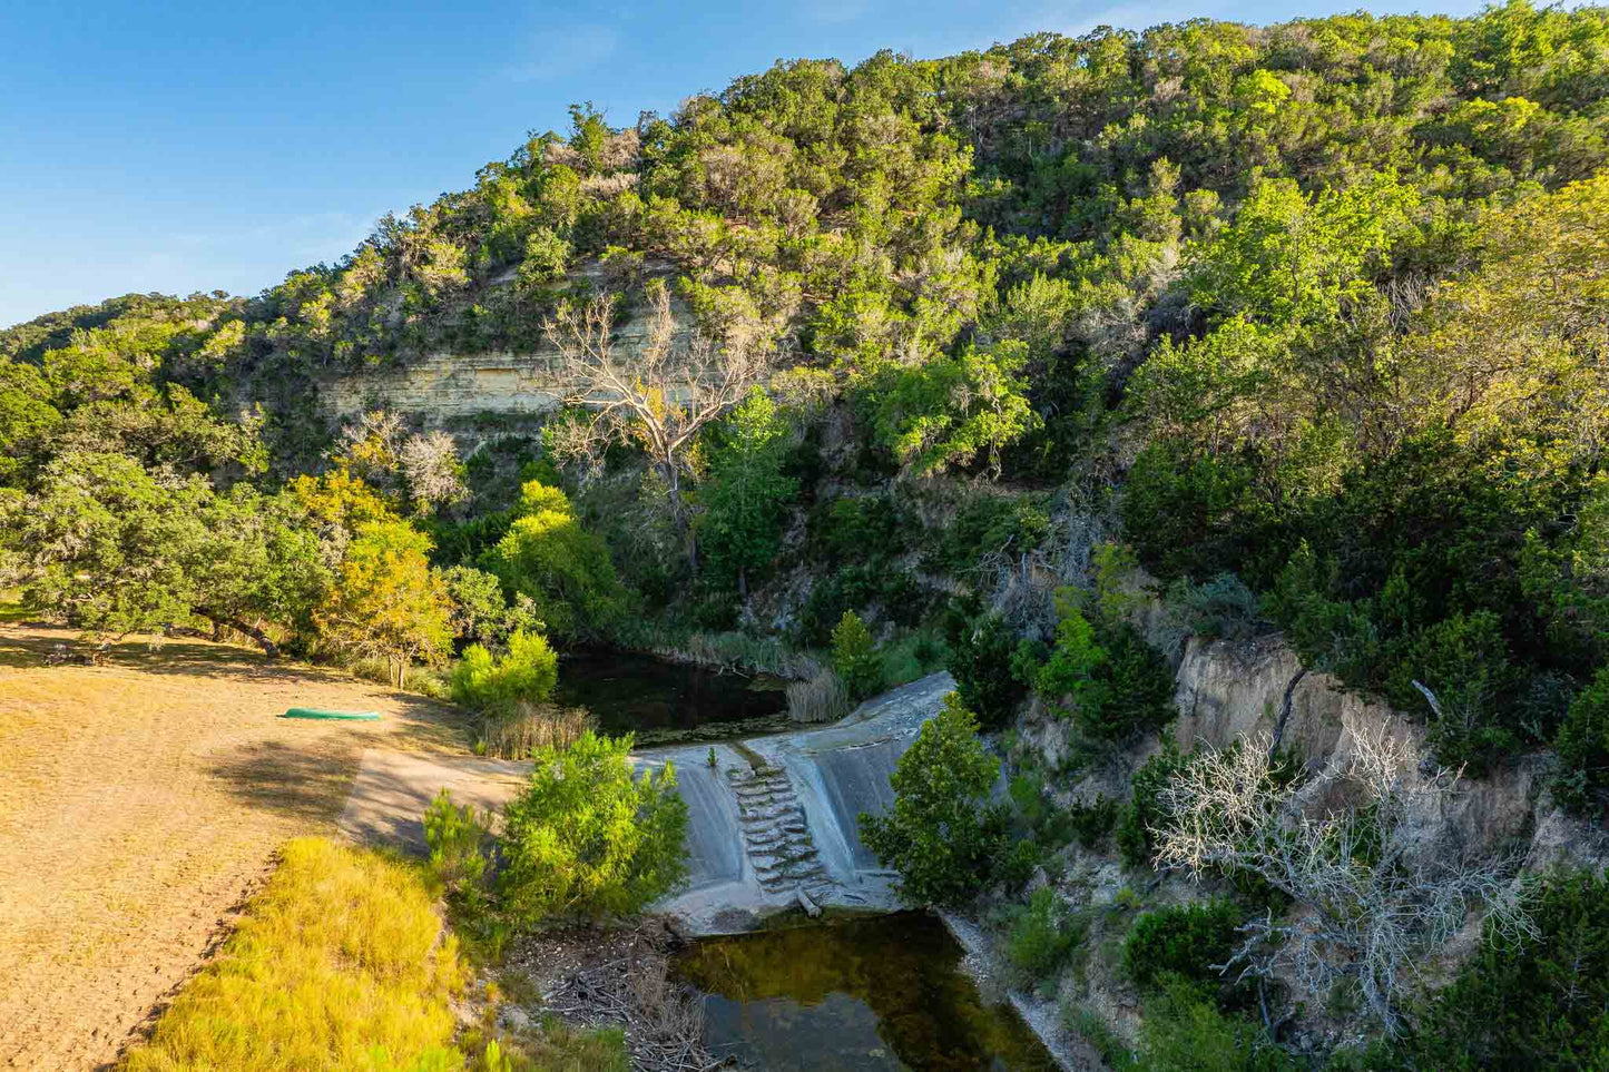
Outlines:
{"type": "Polygon", "coordinates": [[[587,410],[552,425],[550,444],[562,462],[592,470],[611,443],[639,446],[665,480],[676,534],[698,568],[698,547],[682,480],[695,475],[698,433],[742,401],[769,367],[771,346],[759,332],[740,330],[716,341],[700,332],[679,340],[663,280],[647,287],[648,341],[640,349],[615,344],[615,299],[597,296],[562,303],[542,330],[558,351],[566,401],[587,410]]]}

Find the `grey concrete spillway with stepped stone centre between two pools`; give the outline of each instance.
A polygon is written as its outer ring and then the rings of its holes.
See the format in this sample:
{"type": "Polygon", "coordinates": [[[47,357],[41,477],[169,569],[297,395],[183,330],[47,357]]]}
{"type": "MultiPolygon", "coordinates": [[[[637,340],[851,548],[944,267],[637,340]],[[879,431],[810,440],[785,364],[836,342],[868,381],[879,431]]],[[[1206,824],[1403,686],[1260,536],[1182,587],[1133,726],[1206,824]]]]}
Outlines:
{"type": "Polygon", "coordinates": [[[748,930],[804,893],[822,906],[895,908],[893,874],[861,843],[858,816],[893,805],[888,777],[956,684],[932,674],[822,729],[644,752],[674,763],[687,802],[689,885],[661,909],[692,934],[748,930]]]}

